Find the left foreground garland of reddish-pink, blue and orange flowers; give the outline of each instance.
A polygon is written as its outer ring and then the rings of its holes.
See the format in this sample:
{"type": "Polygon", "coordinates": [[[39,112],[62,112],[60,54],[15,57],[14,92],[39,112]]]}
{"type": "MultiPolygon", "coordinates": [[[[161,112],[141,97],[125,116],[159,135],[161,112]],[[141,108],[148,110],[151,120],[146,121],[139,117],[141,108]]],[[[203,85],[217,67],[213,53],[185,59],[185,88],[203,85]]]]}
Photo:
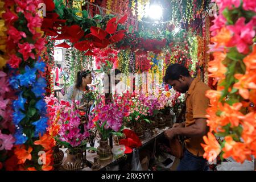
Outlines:
{"type": "Polygon", "coordinates": [[[16,139],[14,155],[6,160],[7,170],[51,170],[54,140],[46,133],[46,103],[43,100],[46,64],[38,56],[44,49],[36,7],[40,1],[6,1],[7,52],[10,53],[9,82],[18,99],[13,101],[16,139]],[[18,69],[17,69],[18,68],[18,69]],[[46,152],[46,163],[39,151],[46,152]]]}

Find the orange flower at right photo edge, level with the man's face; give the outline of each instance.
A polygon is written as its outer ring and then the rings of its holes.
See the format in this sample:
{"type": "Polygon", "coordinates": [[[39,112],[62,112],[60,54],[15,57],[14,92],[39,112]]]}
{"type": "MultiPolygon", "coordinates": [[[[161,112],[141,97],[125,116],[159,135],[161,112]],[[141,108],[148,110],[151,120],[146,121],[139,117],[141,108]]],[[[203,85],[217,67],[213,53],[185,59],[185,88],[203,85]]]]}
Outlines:
{"type": "Polygon", "coordinates": [[[249,99],[249,90],[256,89],[256,74],[253,71],[246,71],[245,75],[236,74],[234,75],[238,82],[233,85],[233,88],[239,89],[239,94],[244,99],[249,99]]]}

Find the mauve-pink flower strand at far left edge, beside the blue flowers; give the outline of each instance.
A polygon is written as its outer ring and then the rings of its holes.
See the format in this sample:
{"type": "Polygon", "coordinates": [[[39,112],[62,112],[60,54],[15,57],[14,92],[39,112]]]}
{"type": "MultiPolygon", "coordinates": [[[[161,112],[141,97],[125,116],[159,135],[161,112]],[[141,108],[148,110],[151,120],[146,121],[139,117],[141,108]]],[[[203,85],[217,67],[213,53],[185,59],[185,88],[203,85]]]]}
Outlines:
{"type": "MultiPolygon", "coordinates": [[[[15,97],[9,88],[9,82],[6,76],[6,73],[0,71],[0,116],[2,117],[0,128],[14,133],[15,126],[12,122],[13,109],[11,107],[11,100],[15,97]]],[[[2,134],[0,130],[0,150],[11,150],[14,142],[15,139],[11,134],[2,134]]]]}

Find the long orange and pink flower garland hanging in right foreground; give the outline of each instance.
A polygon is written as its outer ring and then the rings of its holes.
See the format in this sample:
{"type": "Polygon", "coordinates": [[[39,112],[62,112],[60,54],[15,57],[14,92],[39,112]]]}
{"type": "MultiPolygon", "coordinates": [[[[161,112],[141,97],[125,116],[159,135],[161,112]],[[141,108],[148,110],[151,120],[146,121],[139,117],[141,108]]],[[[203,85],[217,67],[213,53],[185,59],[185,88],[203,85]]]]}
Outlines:
{"type": "MultiPolygon", "coordinates": [[[[232,157],[243,163],[256,156],[256,3],[217,1],[219,15],[225,21],[214,31],[214,60],[209,62],[209,77],[218,81],[217,90],[207,97],[208,137],[204,137],[204,158],[213,161],[232,157]],[[216,137],[224,137],[217,140],[216,137]]],[[[217,22],[214,23],[214,27],[217,22]]]]}

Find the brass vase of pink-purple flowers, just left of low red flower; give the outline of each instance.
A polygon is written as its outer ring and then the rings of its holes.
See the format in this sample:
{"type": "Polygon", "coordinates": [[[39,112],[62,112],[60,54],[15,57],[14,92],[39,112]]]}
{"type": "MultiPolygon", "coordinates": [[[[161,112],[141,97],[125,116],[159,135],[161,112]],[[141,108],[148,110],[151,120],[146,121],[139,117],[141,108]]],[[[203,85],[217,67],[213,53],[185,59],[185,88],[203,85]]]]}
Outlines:
{"type": "Polygon", "coordinates": [[[97,148],[97,154],[101,160],[112,159],[112,148],[109,146],[109,141],[100,140],[100,146],[97,148]]]}

